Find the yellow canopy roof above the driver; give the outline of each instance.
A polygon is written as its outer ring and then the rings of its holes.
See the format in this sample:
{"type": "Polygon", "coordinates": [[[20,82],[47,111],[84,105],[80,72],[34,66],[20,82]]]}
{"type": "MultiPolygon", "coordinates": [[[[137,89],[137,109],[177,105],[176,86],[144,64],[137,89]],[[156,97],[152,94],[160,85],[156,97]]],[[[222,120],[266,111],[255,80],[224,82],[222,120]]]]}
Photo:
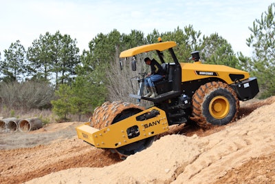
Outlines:
{"type": "Polygon", "coordinates": [[[129,50],[124,50],[120,53],[120,58],[122,57],[133,57],[136,54],[140,54],[142,52],[149,52],[152,50],[167,50],[168,48],[173,48],[177,45],[175,41],[165,41],[165,42],[159,42],[159,43],[152,43],[148,45],[141,45],[136,48],[131,48],[129,50]]]}

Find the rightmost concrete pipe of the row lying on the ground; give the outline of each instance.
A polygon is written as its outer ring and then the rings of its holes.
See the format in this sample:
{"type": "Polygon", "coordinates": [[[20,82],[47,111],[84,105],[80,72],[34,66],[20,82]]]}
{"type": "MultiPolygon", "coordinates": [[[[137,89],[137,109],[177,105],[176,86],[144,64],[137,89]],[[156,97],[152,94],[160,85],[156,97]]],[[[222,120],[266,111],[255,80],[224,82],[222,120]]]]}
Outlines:
{"type": "Polygon", "coordinates": [[[20,132],[30,132],[42,127],[42,121],[39,118],[22,119],[19,121],[18,129],[20,132]]]}

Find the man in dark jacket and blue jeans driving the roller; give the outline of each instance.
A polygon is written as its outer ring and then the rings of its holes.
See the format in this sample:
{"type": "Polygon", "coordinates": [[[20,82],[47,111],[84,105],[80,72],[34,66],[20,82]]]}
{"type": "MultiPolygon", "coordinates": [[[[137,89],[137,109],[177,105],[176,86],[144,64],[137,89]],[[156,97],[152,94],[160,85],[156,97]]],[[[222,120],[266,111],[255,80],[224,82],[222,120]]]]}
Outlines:
{"type": "Polygon", "coordinates": [[[154,82],[162,79],[165,71],[162,69],[162,66],[157,63],[157,61],[155,61],[155,59],[151,60],[146,57],[144,59],[144,62],[146,63],[146,65],[151,66],[151,72],[149,72],[144,79],[144,84],[148,90],[148,94],[144,95],[144,97],[154,98],[155,96],[157,96],[157,90],[155,89],[154,82]]]}

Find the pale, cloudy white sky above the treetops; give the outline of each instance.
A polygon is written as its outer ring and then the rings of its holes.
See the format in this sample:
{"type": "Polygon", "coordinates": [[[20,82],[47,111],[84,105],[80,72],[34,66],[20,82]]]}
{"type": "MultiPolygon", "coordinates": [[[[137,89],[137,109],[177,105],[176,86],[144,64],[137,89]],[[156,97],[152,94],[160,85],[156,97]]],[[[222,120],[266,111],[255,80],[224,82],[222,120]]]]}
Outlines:
{"type": "Polygon", "coordinates": [[[255,19],[267,11],[270,0],[0,0],[0,52],[17,40],[25,47],[40,34],[69,34],[78,41],[80,54],[91,39],[116,29],[120,34],[140,30],[146,36],[193,25],[209,36],[217,32],[234,52],[250,57],[246,45],[255,19]]]}

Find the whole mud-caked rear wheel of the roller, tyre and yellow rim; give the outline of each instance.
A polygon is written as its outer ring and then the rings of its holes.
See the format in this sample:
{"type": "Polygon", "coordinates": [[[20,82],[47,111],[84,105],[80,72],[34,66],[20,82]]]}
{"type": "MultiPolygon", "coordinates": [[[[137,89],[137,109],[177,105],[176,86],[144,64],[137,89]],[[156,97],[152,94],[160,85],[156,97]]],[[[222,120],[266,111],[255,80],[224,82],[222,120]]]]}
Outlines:
{"type": "Polygon", "coordinates": [[[213,81],[201,85],[192,97],[192,116],[202,127],[225,125],[239,113],[239,99],[227,84],[213,81]]]}

